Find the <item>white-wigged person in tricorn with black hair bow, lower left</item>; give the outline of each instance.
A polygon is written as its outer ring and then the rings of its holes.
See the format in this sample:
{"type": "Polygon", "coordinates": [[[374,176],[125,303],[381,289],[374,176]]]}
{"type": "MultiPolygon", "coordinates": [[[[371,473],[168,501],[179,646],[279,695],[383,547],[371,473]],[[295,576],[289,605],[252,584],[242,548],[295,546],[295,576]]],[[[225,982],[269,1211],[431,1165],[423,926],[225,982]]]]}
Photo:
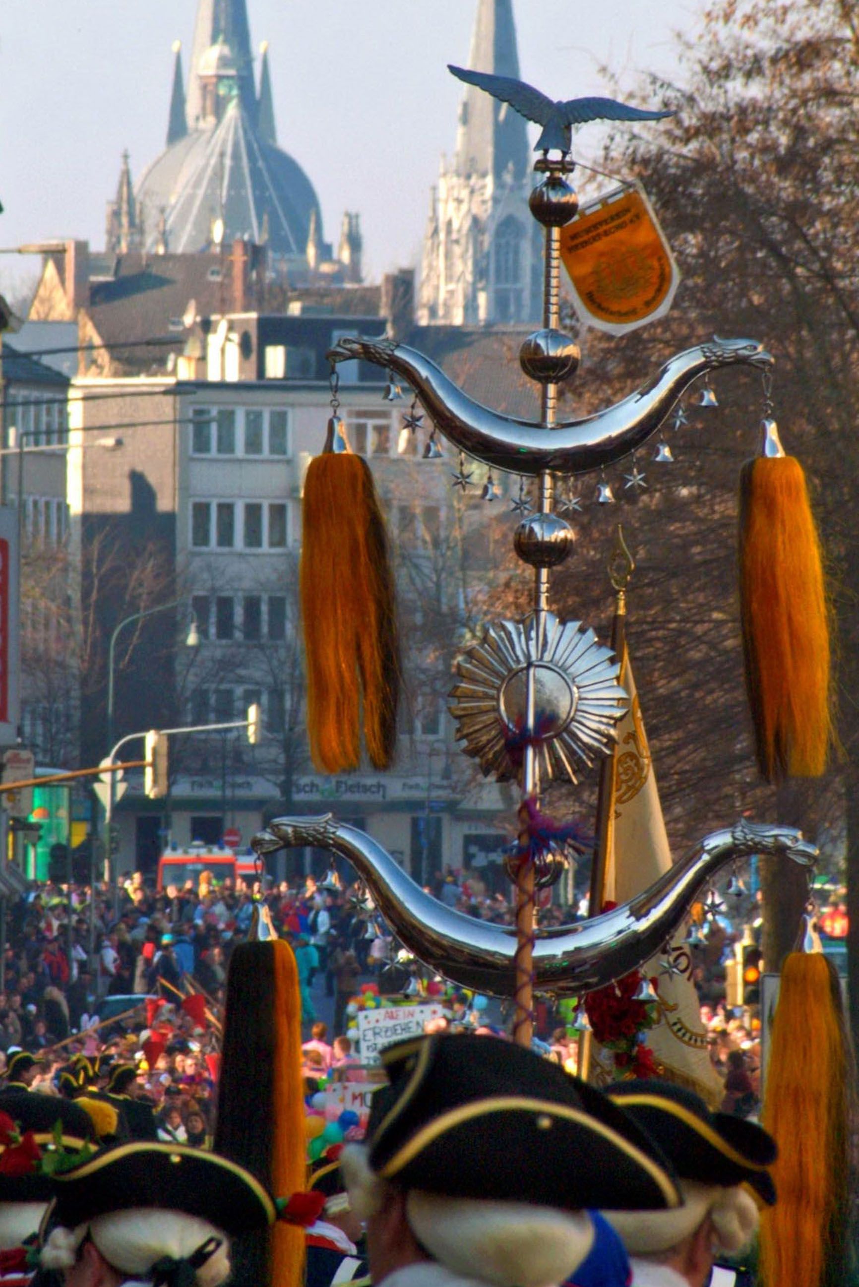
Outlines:
{"type": "Polygon", "coordinates": [[[229,1239],[274,1223],[250,1171],[182,1144],[120,1144],[57,1175],[40,1255],[67,1287],[218,1287],[229,1239]]]}

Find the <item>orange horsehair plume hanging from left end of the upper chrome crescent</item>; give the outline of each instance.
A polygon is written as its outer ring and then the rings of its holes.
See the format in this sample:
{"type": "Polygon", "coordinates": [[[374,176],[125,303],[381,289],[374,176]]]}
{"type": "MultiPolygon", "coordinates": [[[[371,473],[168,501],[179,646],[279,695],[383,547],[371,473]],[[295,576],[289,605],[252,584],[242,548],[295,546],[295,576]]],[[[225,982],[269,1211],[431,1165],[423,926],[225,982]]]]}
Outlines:
{"type": "Polygon", "coordinates": [[[394,577],[372,472],[336,414],[304,481],[299,579],[310,758],[327,773],[358,767],[363,704],[367,753],[388,768],[399,690],[394,577]]]}

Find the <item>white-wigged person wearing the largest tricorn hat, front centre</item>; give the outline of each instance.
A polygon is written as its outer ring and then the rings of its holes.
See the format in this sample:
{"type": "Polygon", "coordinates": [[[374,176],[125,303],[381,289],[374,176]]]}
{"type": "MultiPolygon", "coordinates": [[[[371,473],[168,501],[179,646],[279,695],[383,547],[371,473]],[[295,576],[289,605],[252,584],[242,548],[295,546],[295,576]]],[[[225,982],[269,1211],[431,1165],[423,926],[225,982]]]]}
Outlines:
{"type": "Polygon", "coordinates": [[[549,1287],[592,1246],[586,1207],[679,1205],[644,1131],[531,1050],[439,1035],[381,1060],[390,1085],[341,1160],[376,1284],[549,1287]]]}

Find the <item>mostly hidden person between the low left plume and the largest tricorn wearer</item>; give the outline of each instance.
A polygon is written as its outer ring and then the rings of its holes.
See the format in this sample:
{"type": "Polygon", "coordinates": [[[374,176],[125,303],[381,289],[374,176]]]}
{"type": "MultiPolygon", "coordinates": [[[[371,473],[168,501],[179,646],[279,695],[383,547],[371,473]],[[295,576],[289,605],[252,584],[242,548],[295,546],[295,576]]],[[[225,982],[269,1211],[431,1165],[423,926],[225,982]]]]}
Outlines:
{"type": "Polygon", "coordinates": [[[307,1232],[305,1287],[336,1287],[367,1274],[367,1261],[357,1247],[363,1229],[346,1193],[340,1152],[340,1144],[328,1149],[310,1176],[310,1192],[325,1194],[326,1202],[307,1232]]]}

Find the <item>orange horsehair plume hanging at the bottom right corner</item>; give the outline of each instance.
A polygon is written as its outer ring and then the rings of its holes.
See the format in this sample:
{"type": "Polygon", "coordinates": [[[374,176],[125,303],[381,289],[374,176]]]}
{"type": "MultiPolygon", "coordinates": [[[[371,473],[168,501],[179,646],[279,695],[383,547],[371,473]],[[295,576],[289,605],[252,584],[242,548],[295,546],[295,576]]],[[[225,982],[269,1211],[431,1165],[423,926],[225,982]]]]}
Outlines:
{"type": "Polygon", "coordinates": [[[782,968],[762,1125],[778,1144],[774,1207],[761,1216],[764,1287],[844,1283],[853,1060],[838,976],[820,952],[782,968]]]}

